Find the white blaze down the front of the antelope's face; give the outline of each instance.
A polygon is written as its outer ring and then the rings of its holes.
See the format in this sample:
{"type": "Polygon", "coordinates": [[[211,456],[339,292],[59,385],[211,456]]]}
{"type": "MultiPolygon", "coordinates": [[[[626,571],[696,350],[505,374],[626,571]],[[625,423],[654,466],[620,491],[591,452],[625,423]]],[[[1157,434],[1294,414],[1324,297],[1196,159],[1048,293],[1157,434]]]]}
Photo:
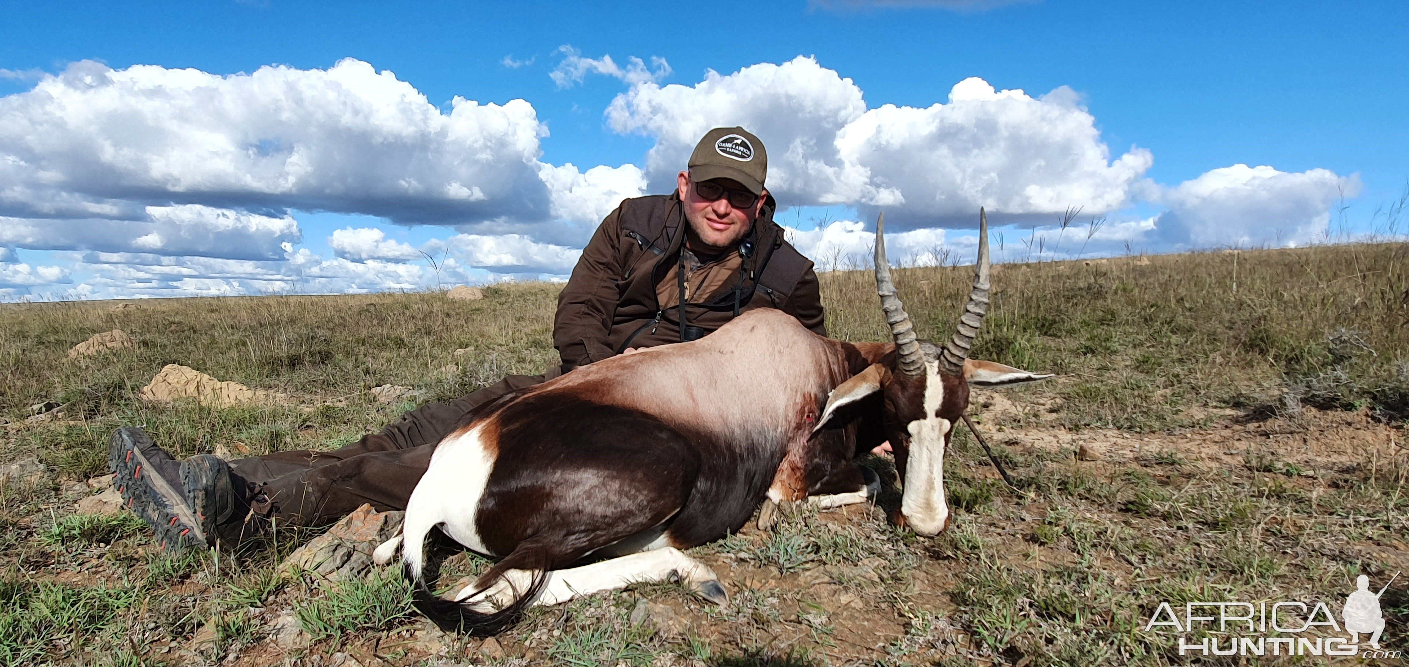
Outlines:
{"type": "Polygon", "coordinates": [[[934,414],[944,402],[944,383],[938,363],[926,363],[924,418],[906,426],[910,432],[910,457],[905,469],[905,495],[900,514],[916,533],[938,535],[950,518],[944,502],[944,435],[950,421],[934,414]]]}

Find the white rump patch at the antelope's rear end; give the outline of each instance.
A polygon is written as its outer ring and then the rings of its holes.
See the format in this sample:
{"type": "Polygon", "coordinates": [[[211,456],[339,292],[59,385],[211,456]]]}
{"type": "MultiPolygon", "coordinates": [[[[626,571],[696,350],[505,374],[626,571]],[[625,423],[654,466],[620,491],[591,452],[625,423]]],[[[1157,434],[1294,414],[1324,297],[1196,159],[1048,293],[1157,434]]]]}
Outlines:
{"type": "MultiPolygon", "coordinates": [[[[475,426],[435,447],[430,469],[406,502],[406,535],[424,535],[431,526],[440,525],[455,542],[489,554],[475,529],[479,501],[495,467],[495,456],[480,439],[482,429],[483,426],[475,426]]],[[[420,545],[416,549],[420,550],[420,545]]]]}

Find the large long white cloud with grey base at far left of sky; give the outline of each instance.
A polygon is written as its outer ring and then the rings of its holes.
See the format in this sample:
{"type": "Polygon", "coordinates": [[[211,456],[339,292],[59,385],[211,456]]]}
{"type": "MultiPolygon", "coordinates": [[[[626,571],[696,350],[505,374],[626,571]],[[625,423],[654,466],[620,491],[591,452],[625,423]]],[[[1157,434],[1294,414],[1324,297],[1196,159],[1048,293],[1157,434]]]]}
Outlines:
{"type": "Polygon", "coordinates": [[[77,62],[0,97],[0,215],[200,203],[406,224],[545,218],[533,106],[449,106],[354,59],[230,76],[77,62]]]}

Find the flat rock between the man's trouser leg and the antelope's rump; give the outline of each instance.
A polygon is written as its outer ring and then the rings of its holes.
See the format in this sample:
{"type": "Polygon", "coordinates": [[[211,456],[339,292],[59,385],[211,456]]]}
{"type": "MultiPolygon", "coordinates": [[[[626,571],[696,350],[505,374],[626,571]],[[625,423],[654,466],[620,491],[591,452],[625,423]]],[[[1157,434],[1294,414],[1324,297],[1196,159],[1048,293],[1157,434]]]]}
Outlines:
{"type": "Polygon", "coordinates": [[[337,581],[361,577],[372,568],[372,552],[396,535],[406,512],[378,512],[364,504],[299,550],[283,559],[280,570],[302,568],[337,581]]]}

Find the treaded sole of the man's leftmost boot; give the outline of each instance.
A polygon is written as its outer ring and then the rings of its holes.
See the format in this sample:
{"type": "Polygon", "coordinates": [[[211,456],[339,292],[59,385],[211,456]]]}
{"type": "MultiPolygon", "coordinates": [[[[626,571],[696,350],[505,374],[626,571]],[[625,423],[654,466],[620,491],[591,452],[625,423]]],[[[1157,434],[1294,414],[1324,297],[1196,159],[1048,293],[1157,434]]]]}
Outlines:
{"type": "Polygon", "coordinates": [[[113,484],[123,495],[123,505],[152,526],[162,550],[176,553],[206,547],[206,531],[185,494],[156,474],[139,445],[130,433],[118,431],[108,446],[107,466],[114,474],[113,484]]]}

